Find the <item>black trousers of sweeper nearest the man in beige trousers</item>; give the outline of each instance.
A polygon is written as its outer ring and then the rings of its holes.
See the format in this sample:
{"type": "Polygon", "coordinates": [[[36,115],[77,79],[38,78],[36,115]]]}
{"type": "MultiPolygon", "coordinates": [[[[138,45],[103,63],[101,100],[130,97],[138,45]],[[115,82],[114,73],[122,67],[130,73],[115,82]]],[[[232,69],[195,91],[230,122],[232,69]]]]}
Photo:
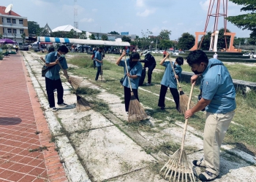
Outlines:
{"type": "MultiPolygon", "coordinates": [[[[161,84],[161,90],[160,90],[160,95],[159,95],[159,100],[158,100],[158,106],[159,107],[165,107],[165,95],[167,92],[168,87],[165,85],[161,84]]],[[[173,95],[173,100],[176,103],[176,108],[178,110],[178,103],[179,103],[179,95],[178,95],[178,90],[174,88],[169,88],[170,93],[173,95]]]]}

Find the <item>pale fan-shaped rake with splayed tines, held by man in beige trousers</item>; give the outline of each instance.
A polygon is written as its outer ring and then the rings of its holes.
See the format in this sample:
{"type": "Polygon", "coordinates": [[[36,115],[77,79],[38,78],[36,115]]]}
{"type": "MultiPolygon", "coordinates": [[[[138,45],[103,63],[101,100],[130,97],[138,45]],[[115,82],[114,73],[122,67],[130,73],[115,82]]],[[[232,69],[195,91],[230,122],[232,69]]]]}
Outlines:
{"type": "MultiPolygon", "coordinates": [[[[190,101],[192,98],[192,92],[195,84],[192,84],[190,95],[189,95],[189,101],[187,103],[187,108],[189,109],[190,101]]],[[[189,160],[189,157],[187,157],[186,151],[184,150],[184,142],[185,142],[185,136],[186,136],[186,130],[187,130],[187,122],[188,119],[186,119],[184,124],[184,130],[183,130],[183,138],[181,142],[181,148],[178,149],[172,157],[168,160],[168,162],[162,167],[159,173],[161,173],[162,170],[165,169],[164,175],[165,178],[167,178],[167,175],[170,173],[169,181],[171,180],[173,176],[173,181],[184,181],[184,178],[187,182],[188,178],[190,178],[190,181],[195,181],[195,176],[192,170],[191,162],[189,160]],[[178,175],[178,177],[177,177],[178,175]]]]}

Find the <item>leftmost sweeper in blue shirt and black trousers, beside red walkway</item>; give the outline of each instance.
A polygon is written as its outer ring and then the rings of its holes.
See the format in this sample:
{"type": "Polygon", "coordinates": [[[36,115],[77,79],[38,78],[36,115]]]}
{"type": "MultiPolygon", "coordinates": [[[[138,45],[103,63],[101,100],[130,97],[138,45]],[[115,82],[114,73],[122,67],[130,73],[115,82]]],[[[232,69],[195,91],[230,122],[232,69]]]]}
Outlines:
{"type": "MultiPolygon", "coordinates": [[[[67,52],[69,52],[67,47],[65,45],[61,45],[56,52],[50,52],[45,57],[46,66],[50,67],[45,74],[45,84],[46,84],[46,91],[48,95],[49,105],[52,111],[57,111],[57,108],[55,107],[55,101],[54,101],[54,92],[53,92],[54,89],[57,90],[58,105],[59,106],[67,105],[67,103],[64,103],[64,100],[63,100],[64,90],[61,84],[61,77],[59,75],[59,71],[61,70],[61,67],[59,66],[59,63],[60,63],[62,68],[64,68],[64,74],[66,74],[68,78],[67,61],[65,58],[65,55],[67,54],[67,52]]],[[[70,80],[68,80],[68,82],[70,83],[70,80]]]]}

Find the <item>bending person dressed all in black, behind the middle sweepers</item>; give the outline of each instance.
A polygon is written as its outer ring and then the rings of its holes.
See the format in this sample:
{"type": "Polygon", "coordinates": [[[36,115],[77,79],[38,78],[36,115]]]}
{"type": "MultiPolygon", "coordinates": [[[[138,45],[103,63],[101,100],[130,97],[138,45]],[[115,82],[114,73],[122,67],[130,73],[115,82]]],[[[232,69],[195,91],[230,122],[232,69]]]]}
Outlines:
{"type": "MultiPolygon", "coordinates": [[[[141,52],[141,55],[143,55],[143,52],[141,52]]],[[[154,59],[154,56],[151,55],[148,51],[146,52],[145,59],[140,60],[140,62],[144,63],[144,68],[148,68],[148,83],[146,83],[146,86],[151,85],[151,78],[154,68],[156,68],[156,60],[154,59]]]]}

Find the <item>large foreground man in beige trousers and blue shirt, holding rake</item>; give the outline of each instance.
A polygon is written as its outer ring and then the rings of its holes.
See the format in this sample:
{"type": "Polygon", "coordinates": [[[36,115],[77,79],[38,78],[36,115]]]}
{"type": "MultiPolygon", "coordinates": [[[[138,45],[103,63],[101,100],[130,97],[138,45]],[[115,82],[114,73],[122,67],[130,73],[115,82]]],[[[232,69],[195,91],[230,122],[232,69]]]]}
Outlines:
{"type": "Polygon", "coordinates": [[[193,164],[206,167],[199,175],[201,181],[211,181],[219,175],[219,150],[235,114],[236,90],[230,73],[220,60],[210,59],[202,50],[195,50],[187,56],[187,63],[195,73],[194,83],[201,77],[201,99],[197,105],[184,114],[185,119],[206,108],[206,125],[203,134],[204,157],[194,160],[193,164]]]}

